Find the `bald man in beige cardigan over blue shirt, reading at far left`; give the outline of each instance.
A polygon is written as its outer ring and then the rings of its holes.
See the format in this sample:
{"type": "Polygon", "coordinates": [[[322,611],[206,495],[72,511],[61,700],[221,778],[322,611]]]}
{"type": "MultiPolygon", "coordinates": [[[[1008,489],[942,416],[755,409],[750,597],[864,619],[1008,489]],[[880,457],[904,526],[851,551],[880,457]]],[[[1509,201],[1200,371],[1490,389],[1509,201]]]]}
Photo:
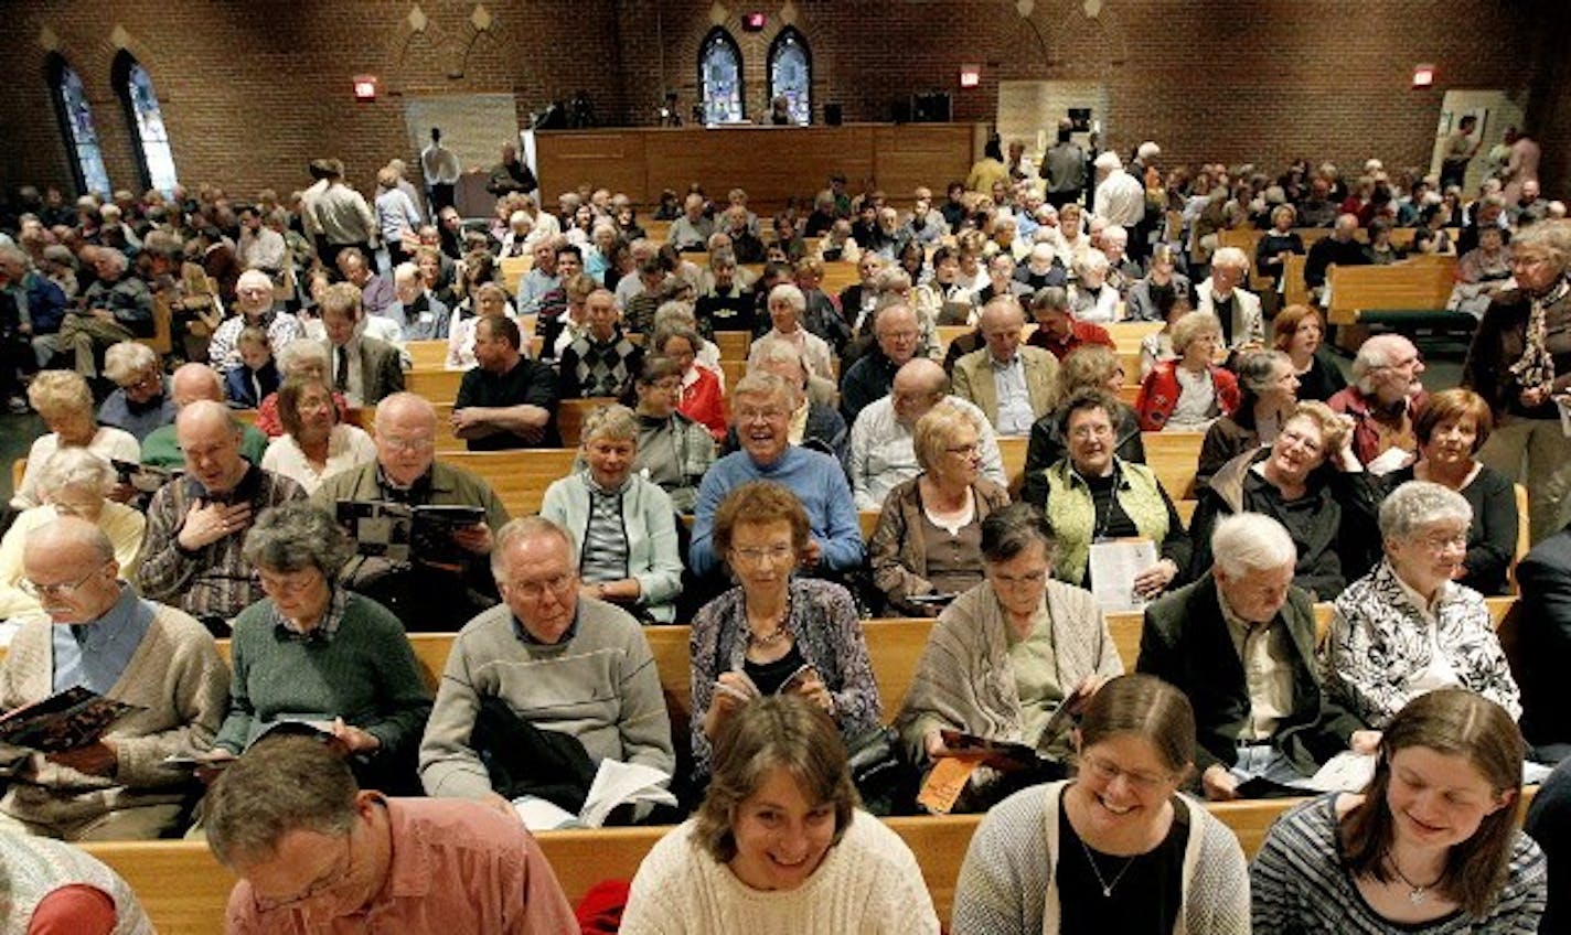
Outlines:
{"type": "Polygon", "coordinates": [[[102,739],[58,753],[0,744],[0,828],[107,841],[178,831],[189,773],[170,755],[212,745],[229,673],[190,615],[138,598],[94,524],[66,516],[35,529],[22,552],[44,618],[22,624],[0,665],[0,708],[14,711],[75,686],[137,704],[102,739]]]}

